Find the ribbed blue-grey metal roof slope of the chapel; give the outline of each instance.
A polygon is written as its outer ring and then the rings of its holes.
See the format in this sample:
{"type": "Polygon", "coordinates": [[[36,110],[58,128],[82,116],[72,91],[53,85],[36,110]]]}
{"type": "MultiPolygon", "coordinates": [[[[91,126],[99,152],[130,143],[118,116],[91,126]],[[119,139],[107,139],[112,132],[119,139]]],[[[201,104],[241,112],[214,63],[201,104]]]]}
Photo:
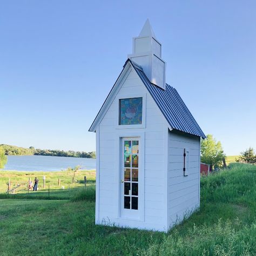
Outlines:
{"type": "MultiPolygon", "coordinates": [[[[179,93],[169,84],[166,84],[165,90],[152,84],[146,77],[141,66],[130,62],[133,68],[138,73],[140,79],[142,79],[147,90],[149,90],[151,96],[157,103],[159,109],[164,114],[167,122],[170,124],[172,129],[187,132],[201,138],[206,138],[204,132],[201,130],[196,120],[188,110],[187,106],[180,98],[179,93]]],[[[125,63],[125,65],[127,64],[125,63]]]]}

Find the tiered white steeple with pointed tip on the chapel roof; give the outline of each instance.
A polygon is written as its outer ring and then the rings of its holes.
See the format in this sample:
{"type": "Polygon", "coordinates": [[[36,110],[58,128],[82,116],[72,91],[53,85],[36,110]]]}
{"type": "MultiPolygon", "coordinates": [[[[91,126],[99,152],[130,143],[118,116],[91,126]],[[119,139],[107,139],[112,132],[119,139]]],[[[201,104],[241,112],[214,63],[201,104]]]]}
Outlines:
{"type": "Polygon", "coordinates": [[[142,66],[150,82],[165,89],[165,62],[161,59],[161,44],[157,41],[149,19],[146,20],[138,37],[133,37],[133,62],[142,66]]]}

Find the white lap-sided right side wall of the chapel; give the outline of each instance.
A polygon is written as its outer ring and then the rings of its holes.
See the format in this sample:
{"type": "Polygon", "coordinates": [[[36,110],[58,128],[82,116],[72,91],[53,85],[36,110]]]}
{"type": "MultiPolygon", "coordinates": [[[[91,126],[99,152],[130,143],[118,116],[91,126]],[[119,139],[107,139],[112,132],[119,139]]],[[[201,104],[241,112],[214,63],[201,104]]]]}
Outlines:
{"type": "Polygon", "coordinates": [[[169,132],[168,215],[170,227],[179,223],[199,205],[199,138],[169,132]],[[183,176],[183,153],[189,151],[189,169],[183,176]]]}

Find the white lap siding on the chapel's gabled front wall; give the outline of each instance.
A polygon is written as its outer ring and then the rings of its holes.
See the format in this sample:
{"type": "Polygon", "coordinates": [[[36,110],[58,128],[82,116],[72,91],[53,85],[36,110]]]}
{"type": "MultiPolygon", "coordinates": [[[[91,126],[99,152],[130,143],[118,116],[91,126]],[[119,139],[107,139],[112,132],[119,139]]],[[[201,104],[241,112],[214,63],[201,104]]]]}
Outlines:
{"type": "MultiPolygon", "coordinates": [[[[164,132],[167,129],[165,118],[158,106],[152,99],[137,73],[131,71],[126,81],[120,88],[118,95],[131,95],[132,93],[146,93],[146,128],[127,129],[134,132],[145,132],[145,163],[144,163],[144,225],[145,227],[158,228],[166,225],[164,217],[164,132]],[[155,226],[155,227],[154,227],[155,226]]],[[[117,133],[122,132],[116,129],[118,110],[115,100],[110,105],[109,110],[100,122],[100,189],[99,189],[99,217],[100,219],[109,218],[110,221],[118,224],[116,218],[116,177],[119,170],[115,170],[117,161],[116,138],[117,133]],[[111,200],[112,199],[112,200],[111,200]]],[[[126,131],[127,131],[126,130],[126,131]]],[[[142,188],[139,188],[142,189],[142,188]]],[[[120,220],[120,225],[122,221],[120,220]]],[[[135,224],[134,224],[135,225],[135,224]]],[[[158,228],[159,229],[159,228],[158,228]]]]}

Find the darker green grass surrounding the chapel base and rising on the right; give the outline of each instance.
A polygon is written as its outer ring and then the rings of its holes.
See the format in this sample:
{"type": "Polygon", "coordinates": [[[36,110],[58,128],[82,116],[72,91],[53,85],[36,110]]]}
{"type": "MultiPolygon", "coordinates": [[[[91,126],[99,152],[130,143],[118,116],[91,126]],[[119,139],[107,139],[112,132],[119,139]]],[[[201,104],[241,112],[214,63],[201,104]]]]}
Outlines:
{"type": "Polygon", "coordinates": [[[95,225],[95,186],[1,199],[1,255],[256,255],[256,166],[201,178],[200,211],[169,233],[95,225]]]}

